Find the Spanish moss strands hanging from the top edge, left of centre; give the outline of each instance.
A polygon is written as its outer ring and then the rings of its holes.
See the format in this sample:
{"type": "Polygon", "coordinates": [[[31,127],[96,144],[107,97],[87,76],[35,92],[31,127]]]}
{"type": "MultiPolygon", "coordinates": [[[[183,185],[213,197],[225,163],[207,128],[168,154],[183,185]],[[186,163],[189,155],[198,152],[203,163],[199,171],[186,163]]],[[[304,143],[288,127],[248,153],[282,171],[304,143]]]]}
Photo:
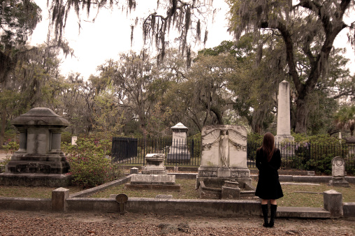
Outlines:
{"type": "MultiPolygon", "coordinates": [[[[140,0],[146,1],[146,0],[140,0]]],[[[117,13],[129,13],[136,9],[139,0],[48,0],[48,6],[51,13],[51,25],[54,30],[55,38],[61,41],[63,31],[66,27],[68,14],[71,10],[79,18],[79,28],[81,22],[81,13],[87,15],[102,8],[120,9],[117,13]]],[[[156,8],[142,18],[136,17],[134,24],[131,25],[131,40],[133,40],[133,31],[138,25],[143,29],[143,40],[146,48],[154,46],[158,52],[157,61],[162,61],[168,49],[168,34],[170,31],[178,32],[174,40],[178,42],[180,53],[187,58],[187,64],[191,63],[191,42],[203,42],[208,39],[208,17],[215,15],[217,10],[212,8],[212,0],[160,0],[154,1],[156,8]]],[[[96,17],[95,15],[95,17],[96,17]]],[[[93,17],[92,22],[94,22],[93,17]]],[[[114,22],[115,23],[115,22],[114,22]]]]}

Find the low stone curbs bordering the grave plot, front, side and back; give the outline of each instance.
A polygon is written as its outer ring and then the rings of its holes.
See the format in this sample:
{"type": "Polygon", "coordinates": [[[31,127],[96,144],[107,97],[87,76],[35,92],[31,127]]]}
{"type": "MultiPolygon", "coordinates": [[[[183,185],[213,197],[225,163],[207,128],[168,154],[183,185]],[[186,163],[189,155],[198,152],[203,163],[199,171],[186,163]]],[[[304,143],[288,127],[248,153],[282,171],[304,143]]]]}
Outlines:
{"type": "MultiPolygon", "coordinates": [[[[194,179],[196,173],[168,173],[177,179],[194,179]]],[[[256,175],[252,175],[256,178],[256,175]]],[[[94,193],[103,191],[111,186],[118,186],[129,182],[131,175],[113,182],[96,186],[92,189],[73,193],[64,197],[63,212],[119,212],[119,203],[115,198],[87,198],[94,193]]],[[[319,176],[287,176],[281,175],[282,182],[322,182],[326,183],[331,177],[319,176]]],[[[355,177],[347,177],[349,183],[355,182],[355,177]]],[[[65,190],[65,189],[64,189],[65,190]]],[[[53,192],[52,192],[53,194],[53,192]]],[[[52,196],[53,199],[53,196],[52,196]]],[[[55,207],[52,199],[48,198],[0,198],[0,209],[28,210],[52,212],[55,207]]],[[[159,198],[129,198],[125,203],[126,211],[132,213],[156,214],[191,214],[206,216],[241,216],[261,215],[259,200],[189,200],[189,199],[159,199],[159,198]]],[[[355,202],[342,204],[343,217],[355,217],[355,202]]],[[[60,207],[59,207],[60,209],[60,207]]],[[[329,212],[315,207],[278,207],[279,217],[296,218],[333,218],[329,212]],[[304,208],[304,209],[300,209],[304,208]]]]}

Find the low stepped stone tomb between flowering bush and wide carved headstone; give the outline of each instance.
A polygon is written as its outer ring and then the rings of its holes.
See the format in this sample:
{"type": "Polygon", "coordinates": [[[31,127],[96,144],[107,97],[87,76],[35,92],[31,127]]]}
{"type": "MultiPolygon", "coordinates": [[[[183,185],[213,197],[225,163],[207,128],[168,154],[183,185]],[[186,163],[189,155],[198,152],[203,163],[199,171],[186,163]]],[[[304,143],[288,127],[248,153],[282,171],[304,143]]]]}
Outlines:
{"type": "Polygon", "coordinates": [[[180,191],[180,184],[175,184],[175,175],[167,175],[164,160],[165,154],[147,154],[142,174],[133,174],[124,189],[180,191]]]}

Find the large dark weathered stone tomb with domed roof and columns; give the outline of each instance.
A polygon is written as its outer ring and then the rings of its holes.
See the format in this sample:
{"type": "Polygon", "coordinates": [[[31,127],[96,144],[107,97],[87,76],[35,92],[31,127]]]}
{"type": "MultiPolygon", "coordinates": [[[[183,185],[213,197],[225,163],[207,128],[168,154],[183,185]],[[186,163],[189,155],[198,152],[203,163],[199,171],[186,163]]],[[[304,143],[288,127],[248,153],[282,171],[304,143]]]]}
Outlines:
{"type": "Polygon", "coordinates": [[[20,132],[20,148],[0,175],[0,184],[67,186],[70,166],[61,152],[61,132],[68,121],[49,108],[33,108],[11,124],[20,132]]]}

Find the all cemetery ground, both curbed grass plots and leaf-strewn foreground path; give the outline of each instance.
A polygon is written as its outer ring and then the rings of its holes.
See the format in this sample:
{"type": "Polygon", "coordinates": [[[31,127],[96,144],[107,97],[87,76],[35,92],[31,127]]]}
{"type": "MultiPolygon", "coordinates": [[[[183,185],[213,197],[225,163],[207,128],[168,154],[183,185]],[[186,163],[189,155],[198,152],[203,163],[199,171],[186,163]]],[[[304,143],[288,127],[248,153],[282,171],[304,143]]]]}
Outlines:
{"type": "MultiPolygon", "coordinates": [[[[180,192],[128,191],[116,186],[92,198],[126,193],[129,197],[171,194],[174,198],[197,198],[196,180],[176,179],[180,192]]],[[[254,179],[253,184],[256,184],[254,179]]],[[[298,183],[300,184],[300,183],[298,183]]],[[[321,207],[323,191],[340,191],[343,202],[355,202],[355,185],[336,188],[319,185],[283,185],[279,206],[321,207]]],[[[71,193],[82,188],[70,186],[71,193]]],[[[50,198],[53,188],[0,186],[0,196],[50,198]]],[[[355,219],[277,219],[275,228],[263,228],[261,216],[217,217],[211,215],[157,215],[126,213],[50,213],[0,210],[0,235],[355,235],[355,219]]]]}

